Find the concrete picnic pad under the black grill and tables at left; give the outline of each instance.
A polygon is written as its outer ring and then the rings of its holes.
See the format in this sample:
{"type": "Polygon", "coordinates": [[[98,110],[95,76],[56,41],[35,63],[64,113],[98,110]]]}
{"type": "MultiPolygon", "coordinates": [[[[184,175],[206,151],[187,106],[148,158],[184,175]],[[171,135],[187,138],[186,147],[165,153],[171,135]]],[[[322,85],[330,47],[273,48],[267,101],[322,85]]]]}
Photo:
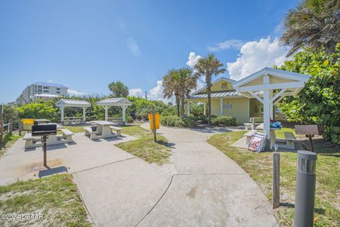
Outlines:
{"type": "MultiPolygon", "coordinates": [[[[135,140],[130,135],[119,138],[90,140],[84,133],[74,135],[74,143],[47,146],[47,165],[50,168],[66,167],[67,172],[78,172],[108,163],[135,157],[114,144],[135,140]]],[[[38,178],[43,167],[42,148],[24,149],[19,139],[0,160],[0,185],[38,178]]]]}

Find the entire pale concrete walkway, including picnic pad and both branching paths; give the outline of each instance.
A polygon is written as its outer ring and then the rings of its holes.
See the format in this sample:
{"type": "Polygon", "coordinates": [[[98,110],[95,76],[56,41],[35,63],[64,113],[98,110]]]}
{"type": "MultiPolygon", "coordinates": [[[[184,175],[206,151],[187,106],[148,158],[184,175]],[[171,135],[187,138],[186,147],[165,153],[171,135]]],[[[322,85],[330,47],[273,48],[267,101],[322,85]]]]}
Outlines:
{"type": "MultiPolygon", "coordinates": [[[[84,133],[73,144],[49,146],[48,163],[72,173],[95,226],[277,226],[257,184],[206,142],[218,132],[162,127],[159,133],[172,143],[171,168],[114,146],[131,136],[89,140],[84,133]]],[[[0,184],[38,177],[41,165],[41,148],[24,152],[18,140],[0,160],[0,184]]]]}

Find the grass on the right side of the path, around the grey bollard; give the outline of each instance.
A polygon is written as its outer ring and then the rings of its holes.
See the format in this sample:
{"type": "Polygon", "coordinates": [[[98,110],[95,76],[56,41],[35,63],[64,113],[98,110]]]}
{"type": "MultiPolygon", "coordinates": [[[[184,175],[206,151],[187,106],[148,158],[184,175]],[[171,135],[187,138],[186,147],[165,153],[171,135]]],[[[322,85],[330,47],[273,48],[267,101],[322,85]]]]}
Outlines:
{"type": "MultiPolygon", "coordinates": [[[[283,128],[283,131],[291,129],[283,128]]],[[[259,184],[271,201],[272,153],[252,153],[231,148],[230,144],[242,138],[246,131],[212,135],[208,143],[232,158],[259,184]]],[[[277,137],[282,135],[276,134],[277,137]]],[[[317,188],[314,226],[340,226],[340,148],[324,140],[315,143],[317,157],[317,188]]],[[[280,226],[293,226],[297,154],[280,153],[280,207],[275,210],[280,226]]]]}

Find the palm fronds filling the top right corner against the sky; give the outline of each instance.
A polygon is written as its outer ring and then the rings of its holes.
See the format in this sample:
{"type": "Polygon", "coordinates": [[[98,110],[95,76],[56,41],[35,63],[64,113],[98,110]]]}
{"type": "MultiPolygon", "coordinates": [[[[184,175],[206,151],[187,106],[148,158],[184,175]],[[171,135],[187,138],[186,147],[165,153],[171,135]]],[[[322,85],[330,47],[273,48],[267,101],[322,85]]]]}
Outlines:
{"type": "Polygon", "coordinates": [[[287,57],[302,46],[322,47],[334,53],[340,42],[340,1],[303,0],[288,12],[283,25],[285,32],[280,42],[291,46],[287,57]]]}

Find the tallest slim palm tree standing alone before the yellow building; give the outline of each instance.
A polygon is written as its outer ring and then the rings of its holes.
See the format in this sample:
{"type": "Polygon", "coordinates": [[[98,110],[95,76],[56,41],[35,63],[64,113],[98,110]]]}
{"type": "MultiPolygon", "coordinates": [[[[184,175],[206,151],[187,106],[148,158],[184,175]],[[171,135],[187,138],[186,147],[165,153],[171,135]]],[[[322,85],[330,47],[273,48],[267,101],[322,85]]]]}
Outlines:
{"type": "Polygon", "coordinates": [[[205,77],[205,84],[207,84],[207,94],[208,94],[208,125],[210,125],[211,120],[211,79],[212,75],[225,73],[225,68],[223,68],[222,62],[215,57],[214,54],[209,54],[207,57],[202,57],[198,60],[198,63],[193,67],[195,76],[198,78],[200,76],[205,77]]]}

